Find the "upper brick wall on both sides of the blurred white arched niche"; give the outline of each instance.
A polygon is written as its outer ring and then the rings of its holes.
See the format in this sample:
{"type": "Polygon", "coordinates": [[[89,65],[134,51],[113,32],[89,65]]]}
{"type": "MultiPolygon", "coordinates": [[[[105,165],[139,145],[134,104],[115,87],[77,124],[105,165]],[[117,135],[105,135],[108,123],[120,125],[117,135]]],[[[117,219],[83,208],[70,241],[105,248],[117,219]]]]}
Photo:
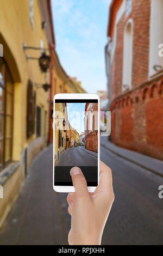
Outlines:
{"type": "Polygon", "coordinates": [[[117,23],[116,48],[110,72],[111,101],[122,94],[123,38],[129,19],[133,20],[132,88],[148,80],[150,11],[151,0],[133,0],[131,14],[126,18],[124,13],[117,23]]]}

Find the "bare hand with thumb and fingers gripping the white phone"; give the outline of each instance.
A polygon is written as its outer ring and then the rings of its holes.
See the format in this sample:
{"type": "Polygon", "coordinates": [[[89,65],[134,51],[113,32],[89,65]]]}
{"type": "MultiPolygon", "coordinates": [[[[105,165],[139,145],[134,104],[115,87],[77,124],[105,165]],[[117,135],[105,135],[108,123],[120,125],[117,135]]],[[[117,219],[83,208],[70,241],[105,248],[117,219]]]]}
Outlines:
{"type": "Polygon", "coordinates": [[[67,196],[71,215],[69,245],[101,245],[105,223],[114,202],[111,169],[101,161],[99,185],[93,194],[87,191],[80,168],[73,167],[71,176],[76,192],[67,196]]]}

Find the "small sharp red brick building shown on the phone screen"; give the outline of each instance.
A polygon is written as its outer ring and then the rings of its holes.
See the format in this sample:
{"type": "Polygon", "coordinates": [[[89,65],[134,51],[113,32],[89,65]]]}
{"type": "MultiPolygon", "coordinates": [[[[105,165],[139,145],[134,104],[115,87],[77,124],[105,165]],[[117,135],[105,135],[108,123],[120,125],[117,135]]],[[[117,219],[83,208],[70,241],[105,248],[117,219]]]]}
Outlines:
{"type": "Polygon", "coordinates": [[[85,104],[85,148],[98,152],[98,103],[85,104]]]}

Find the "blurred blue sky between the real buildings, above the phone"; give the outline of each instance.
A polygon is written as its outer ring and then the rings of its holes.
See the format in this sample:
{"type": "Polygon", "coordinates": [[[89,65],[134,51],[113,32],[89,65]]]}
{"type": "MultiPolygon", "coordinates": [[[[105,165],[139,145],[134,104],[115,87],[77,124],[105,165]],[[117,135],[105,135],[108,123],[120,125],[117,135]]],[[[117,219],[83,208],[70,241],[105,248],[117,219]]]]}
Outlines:
{"type": "Polygon", "coordinates": [[[106,90],[104,46],[110,0],[52,0],[60,62],[88,93],[106,90]]]}

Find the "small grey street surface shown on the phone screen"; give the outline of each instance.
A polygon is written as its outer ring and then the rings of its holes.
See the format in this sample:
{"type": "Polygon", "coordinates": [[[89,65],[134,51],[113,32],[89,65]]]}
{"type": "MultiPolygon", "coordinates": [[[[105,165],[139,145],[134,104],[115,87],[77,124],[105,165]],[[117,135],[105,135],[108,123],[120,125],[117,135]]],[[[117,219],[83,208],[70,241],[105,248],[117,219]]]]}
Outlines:
{"type": "Polygon", "coordinates": [[[97,166],[97,153],[84,146],[68,148],[60,155],[57,166],[97,166]]]}

